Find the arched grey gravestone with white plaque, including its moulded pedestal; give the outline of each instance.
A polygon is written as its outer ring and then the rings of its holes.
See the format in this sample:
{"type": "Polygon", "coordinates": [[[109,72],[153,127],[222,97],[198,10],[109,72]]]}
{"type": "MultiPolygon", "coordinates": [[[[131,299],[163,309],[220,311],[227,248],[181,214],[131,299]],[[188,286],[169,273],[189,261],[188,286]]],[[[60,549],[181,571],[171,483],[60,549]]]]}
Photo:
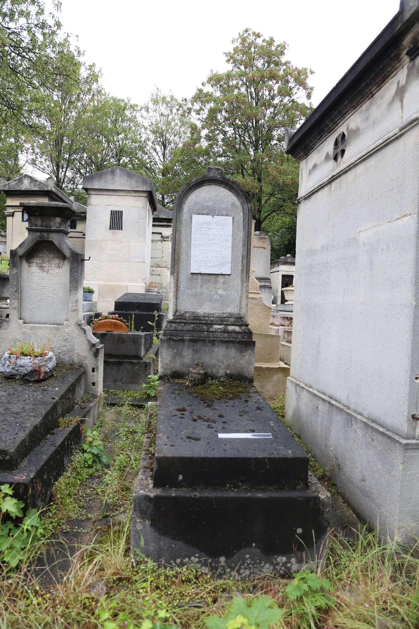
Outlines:
{"type": "Polygon", "coordinates": [[[185,377],[202,360],[211,378],[253,382],[247,323],[251,228],[248,196],[221,168],[209,167],[179,192],[159,377],[185,377]]]}

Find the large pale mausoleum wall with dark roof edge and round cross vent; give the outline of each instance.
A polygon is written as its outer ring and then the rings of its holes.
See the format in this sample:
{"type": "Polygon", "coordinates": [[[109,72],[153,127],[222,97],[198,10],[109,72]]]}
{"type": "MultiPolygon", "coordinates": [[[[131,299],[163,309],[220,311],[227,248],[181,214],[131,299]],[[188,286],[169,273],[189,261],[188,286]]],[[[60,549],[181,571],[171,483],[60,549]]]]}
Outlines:
{"type": "Polygon", "coordinates": [[[300,163],[286,418],[401,542],[419,535],[418,40],[418,0],[402,0],[286,147],[300,163]]]}

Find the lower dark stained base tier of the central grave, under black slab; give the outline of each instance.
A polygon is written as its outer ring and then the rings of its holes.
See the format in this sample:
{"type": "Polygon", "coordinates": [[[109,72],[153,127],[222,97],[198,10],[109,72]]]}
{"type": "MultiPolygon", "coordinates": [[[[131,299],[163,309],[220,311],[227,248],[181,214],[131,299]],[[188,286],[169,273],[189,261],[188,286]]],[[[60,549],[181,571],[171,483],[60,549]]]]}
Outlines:
{"type": "Polygon", "coordinates": [[[313,476],[302,489],[155,487],[154,437],[148,422],[133,491],[133,554],[242,578],[298,572],[318,557],[330,494],[313,476]]]}

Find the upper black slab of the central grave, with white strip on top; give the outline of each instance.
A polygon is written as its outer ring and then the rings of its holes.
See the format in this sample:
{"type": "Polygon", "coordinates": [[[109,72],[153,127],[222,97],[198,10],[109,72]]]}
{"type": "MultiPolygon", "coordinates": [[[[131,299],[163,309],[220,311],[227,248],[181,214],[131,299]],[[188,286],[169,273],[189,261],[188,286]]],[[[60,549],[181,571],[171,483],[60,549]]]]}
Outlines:
{"type": "Polygon", "coordinates": [[[204,402],[193,387],[160,381],[155,487],[307,486],[308,455],[257,389],[248,391],[204,402]]]}

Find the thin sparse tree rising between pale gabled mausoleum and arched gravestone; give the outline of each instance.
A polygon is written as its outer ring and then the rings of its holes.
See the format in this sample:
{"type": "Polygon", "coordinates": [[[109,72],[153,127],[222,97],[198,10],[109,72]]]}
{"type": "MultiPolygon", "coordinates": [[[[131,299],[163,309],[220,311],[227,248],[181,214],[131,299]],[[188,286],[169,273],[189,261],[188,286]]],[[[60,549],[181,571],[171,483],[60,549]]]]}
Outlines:
{"type": "Polygon", "coordinates": [[[178,101],[172,94],[165,96],[156,89],[150,101],[141,107],[141,121],[144,133],[141,170],[153,180],[161,205],[171,207],[182,187],[179,187],[184,174],[182,159],[174,156],[190,138],[188,108],[185,101],[178,101]]]}

